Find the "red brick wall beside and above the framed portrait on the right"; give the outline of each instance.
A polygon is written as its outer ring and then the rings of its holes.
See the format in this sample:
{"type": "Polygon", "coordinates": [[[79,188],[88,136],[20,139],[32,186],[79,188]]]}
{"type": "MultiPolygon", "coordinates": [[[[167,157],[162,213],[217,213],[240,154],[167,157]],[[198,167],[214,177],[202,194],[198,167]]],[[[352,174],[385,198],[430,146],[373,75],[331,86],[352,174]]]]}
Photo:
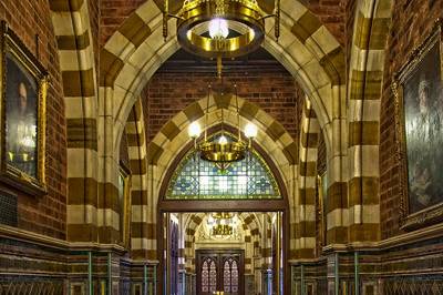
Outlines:
{"type": "Polygon", "coordinates": [[[434,21],[443,17],[443,0],[394,1],[390,33],[380,125],[380,193],[381,231],[388,238],[401,233],[399,228],[399,166],[395,161],[394,100],[391,92],[392,77],[406,62],[411,50],[426,37],[434,21]],[[431,7],[431,3],[432,7],[431,7]],[[430,9],[431,8],[431,9],[430,9]],[[425,17],[423,17],[425,16],[425,17]]]}

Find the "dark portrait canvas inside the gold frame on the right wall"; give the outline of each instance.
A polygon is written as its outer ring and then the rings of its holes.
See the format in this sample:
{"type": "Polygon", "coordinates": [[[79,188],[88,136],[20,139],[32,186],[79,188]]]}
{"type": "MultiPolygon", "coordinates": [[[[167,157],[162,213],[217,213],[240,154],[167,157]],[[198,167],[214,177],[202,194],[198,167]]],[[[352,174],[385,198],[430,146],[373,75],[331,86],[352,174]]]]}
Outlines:
{"type": "Polygon", "coordinates": [[[443,92],[440,42],[403,83],[409,213],[443,202],[443,92]]]}

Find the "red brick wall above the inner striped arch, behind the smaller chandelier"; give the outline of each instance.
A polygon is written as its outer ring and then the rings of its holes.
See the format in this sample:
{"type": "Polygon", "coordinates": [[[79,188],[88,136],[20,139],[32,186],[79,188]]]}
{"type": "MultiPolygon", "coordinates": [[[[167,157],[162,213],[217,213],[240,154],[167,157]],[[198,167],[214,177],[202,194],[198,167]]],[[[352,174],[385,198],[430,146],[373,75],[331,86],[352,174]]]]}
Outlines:
{"type": "MultiPolygon", "coordinates": [[[[266,70],[236,70],[225,73],[225,85],[237,83],[238,95],[257,103],[276,118],[293,139],[298,139],[303,92],[293,78],[281,67],[266,70]]],[[[188,104],[207,94],[207,85],[215,81],[214,73],[199,70],[163,70],[152,78],[143,91],[146,138],[150,142],[159,129],[188,104]]],[[[217,89],[217,85],[213,85],[217,89]]]]}

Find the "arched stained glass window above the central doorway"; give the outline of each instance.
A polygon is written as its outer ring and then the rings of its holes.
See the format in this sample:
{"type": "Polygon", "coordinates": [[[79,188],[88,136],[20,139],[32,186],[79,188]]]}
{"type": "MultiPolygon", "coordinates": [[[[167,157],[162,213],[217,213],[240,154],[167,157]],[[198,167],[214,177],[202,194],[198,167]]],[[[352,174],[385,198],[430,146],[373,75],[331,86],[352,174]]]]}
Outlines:
{"type": "Polygon", "coordinates": [[[189,153],[178,165],[166,199],[279,199],[280,192],[266,162],[249,151],[225,170],[189,153]]]}

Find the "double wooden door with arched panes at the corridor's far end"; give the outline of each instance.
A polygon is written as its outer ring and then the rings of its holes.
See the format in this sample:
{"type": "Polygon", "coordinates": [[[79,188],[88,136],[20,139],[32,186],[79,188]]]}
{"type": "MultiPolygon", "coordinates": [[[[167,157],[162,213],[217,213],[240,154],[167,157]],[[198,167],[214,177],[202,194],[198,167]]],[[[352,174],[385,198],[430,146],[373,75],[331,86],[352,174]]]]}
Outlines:
{"type": "Polygon", "coordinates": [[[244,295],[243,250],[197,250],[197,294],[244,295]]]}

